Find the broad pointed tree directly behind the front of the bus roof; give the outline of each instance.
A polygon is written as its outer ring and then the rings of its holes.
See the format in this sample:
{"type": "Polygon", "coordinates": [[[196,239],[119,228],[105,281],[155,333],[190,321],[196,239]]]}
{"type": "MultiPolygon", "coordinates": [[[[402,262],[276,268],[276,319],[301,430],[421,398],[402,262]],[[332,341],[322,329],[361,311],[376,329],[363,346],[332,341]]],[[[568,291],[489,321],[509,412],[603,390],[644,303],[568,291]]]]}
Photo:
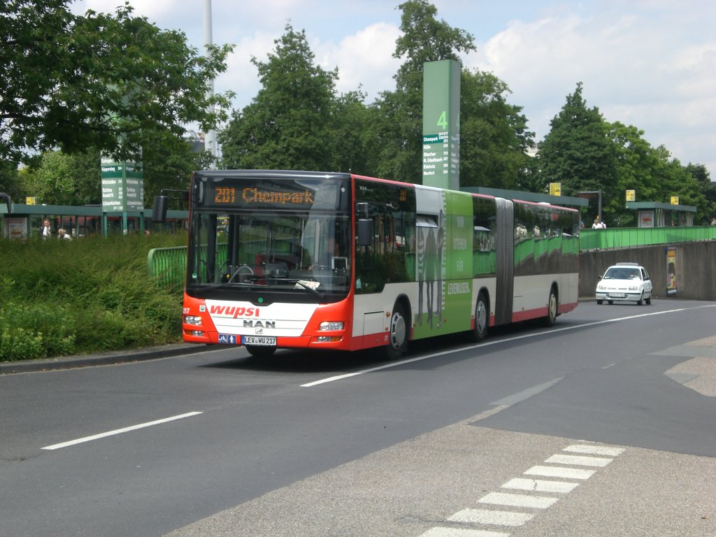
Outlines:
{"type": "Polygon", "coordinates": [[[251,59],[263,87],[219,134],[226,168],[327,170],[334,163],[338,71],[314,64],[304,30],[285,30],[268,62],[251,59]]]}

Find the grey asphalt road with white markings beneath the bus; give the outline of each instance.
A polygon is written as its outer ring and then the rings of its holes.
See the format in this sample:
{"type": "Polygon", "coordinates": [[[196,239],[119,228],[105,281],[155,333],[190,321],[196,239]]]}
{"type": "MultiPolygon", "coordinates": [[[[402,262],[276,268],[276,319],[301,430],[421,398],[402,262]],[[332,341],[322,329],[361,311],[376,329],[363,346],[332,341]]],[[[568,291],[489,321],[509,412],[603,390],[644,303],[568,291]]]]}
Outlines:
{"type": "Polygon", "coordinates": [[[0,536],[716,535],[716,303],[0,375],[0,536]]]}

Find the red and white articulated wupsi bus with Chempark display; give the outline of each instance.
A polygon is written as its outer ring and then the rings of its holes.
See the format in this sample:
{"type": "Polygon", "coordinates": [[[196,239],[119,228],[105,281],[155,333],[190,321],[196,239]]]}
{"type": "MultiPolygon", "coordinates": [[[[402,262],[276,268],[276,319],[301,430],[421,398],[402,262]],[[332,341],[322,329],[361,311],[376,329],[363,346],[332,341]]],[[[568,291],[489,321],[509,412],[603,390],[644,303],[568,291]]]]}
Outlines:
{"type": "Polygon", "coordinates": [[[183,339],[377,348],[577,305],[579,213],[352,173],[193,174],[183,339]]]}

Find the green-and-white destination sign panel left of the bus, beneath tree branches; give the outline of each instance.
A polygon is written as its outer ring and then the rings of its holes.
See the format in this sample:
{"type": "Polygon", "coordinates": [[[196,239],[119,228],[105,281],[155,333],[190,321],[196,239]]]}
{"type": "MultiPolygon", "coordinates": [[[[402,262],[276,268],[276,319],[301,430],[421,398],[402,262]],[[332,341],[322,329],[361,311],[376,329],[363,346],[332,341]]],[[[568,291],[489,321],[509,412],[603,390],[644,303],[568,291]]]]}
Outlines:
{"type": "Polygon", "coordinates": [[[124,212],[144,209],[142,165],[102,160],[102,211],[124,212]]]}

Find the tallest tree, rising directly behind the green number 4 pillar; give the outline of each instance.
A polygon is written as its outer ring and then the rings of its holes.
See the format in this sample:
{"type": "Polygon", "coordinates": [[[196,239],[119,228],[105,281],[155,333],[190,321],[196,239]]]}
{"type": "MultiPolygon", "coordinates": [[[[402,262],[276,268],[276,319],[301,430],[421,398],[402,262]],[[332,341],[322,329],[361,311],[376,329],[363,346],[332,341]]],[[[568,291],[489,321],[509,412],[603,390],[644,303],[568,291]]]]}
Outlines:
{"type": "Polygon", "coordinates": [[[437,9],[426,0],[400,4],[400,30],[393,57],[405,58],[395,74],[395,92],[383,92],[374,103],[373,125],[379,160],[377,173],[385,178],[422,182],[422,73],[425,62],[455,59],[458,52],[475,50],[473,36],[435,19],[437,9]]]}

